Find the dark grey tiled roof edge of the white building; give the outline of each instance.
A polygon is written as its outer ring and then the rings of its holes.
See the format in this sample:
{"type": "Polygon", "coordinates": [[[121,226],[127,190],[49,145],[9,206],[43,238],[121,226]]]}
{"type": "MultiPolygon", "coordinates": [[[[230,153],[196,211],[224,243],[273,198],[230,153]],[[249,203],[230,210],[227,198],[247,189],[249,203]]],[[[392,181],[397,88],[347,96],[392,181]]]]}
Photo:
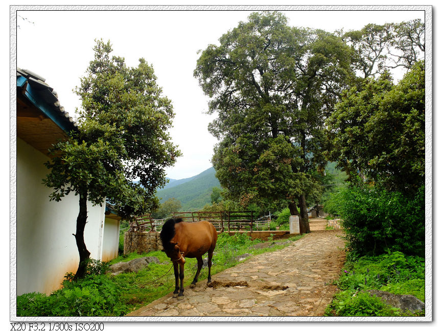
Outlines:
{"type": "MultiPolygon", "coordinates": [[[[77,122],[74,121],[72,116],[70,116],[69,113],[64,110],[63,106],[60,106],[57,92],[54,90],[54,88],[45,83],[45,79],[43,77],[31,72],[31,70],[17,67],[17,87],[19,85],[20,78],[26,79],[27,83],[33,88],[33,90],[36,91],[36,93],[38,93],[41,100],[50,105],[54,115],[59,117],[60,121],[66,124],[67,128],[71,127],[68,129],[72,130],[77,128],[77,122]]],[[[26,90],[26,88],[26,84],[22,85],[22,90],[26,90]]]]}

